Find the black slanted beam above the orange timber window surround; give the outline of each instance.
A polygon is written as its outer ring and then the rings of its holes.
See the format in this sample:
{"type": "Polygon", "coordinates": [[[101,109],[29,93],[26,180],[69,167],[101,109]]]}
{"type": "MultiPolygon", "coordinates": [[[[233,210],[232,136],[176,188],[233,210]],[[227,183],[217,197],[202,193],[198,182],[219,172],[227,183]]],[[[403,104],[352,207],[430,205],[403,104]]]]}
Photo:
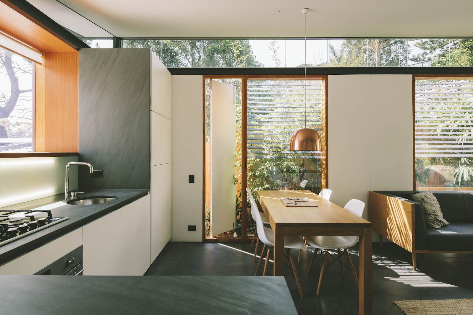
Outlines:
{"type": "Polygon", "coordinates": [[[36,9],[31,3],[26,0],[0,0],[10,8],[17,11],[36,25],[42,27],[44,30],[53,34],[67,43],[71,47],[79,50],[79,48],[90,48],[88,44],[82,42],[79,38],[71,34],[64,27],[56,23],[52,18],[45,15],[40,10],[36,9]]]}

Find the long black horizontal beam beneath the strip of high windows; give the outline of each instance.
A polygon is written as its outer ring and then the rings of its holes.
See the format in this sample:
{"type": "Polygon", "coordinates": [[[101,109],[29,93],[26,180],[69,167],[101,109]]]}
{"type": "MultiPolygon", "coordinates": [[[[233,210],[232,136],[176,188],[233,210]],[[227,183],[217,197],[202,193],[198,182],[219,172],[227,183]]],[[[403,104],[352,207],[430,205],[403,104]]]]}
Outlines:
{"type": "MultiPolygon", "coordinates": [[[[304,75],[304,68],[167,68],[173,75],[251,76],[304,75]]],[[[307,68],[307,75],[406,74],[472,75],[473,67],[323,67],[307,68]]]]}

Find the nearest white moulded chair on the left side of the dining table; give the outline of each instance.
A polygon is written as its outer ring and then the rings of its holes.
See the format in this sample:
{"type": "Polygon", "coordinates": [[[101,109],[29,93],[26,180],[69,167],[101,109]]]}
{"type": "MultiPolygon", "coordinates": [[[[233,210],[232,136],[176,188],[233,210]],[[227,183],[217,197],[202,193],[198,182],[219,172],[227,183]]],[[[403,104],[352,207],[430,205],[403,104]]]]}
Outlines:
{"type": "MultiPolygon", "coordinates": [[[[257,214],[256,215],[256,229],[258,230],[260,240],[264,244],[263,251],[261,252],[261,256],[260,256],[260,261],[258,262],[258,267],[256,267],[256,272],[254,274],[258,274],[261,261],[263,260],[264,250],[266,249],[266,247],[268,247],[268,251],[266,253],[266,258],[265,258],[266,261],[264,262],[264,269],[263,269],[263,276],[265,276],[266,272],[268,271],[268,261],[269,261],[269,255],[271,253],[271,247],[274,247],[274,233],[272,229],[268,229],[263,226],[263,222],[261,221],[261,212],[258,211],[258,208],[256,207],[256,204],[254,204],[254,202],[250,201],[250,203],[251,203],[252,213],[255,212],[255,214],[257,214]]],[[[306,248],[306,244],[302,241],[302,239],[299,236],[292,236],[292,235],[284,236],[284,249],[286,251],[286,254],[284,256],[287,258],[286,260],[288,261],[288,263],[289,261],[291,262],[292,271],[294,271],[294,276],[296,277],[296,282],[299,288],[300,297],[302,298],[303,297],[302,289],[300,287],[299,277],[296,270],[296,264],[294,264],[294,258],[292,257],[291,248],[295,248],[295,249],[306,248]]],[[[289,270],[290,270],[290,267],[289,267],[289,270]]],[[[292,274],[292,272],[290,273],[292,274]]]]}

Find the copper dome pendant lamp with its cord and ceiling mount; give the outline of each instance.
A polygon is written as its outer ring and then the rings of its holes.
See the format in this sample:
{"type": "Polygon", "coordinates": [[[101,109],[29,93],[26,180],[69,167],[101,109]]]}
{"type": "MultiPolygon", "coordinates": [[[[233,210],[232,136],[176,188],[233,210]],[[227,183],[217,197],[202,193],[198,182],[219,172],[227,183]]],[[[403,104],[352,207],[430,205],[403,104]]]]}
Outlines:
{"type": "Polygon", "coordinates": [[[304,128],[299,128],[291,136],[291,141],[289,142],[289,150],[291,151],[321,151],[321,141],[320,135],[317,130],[313,128],[307,128],[307,111],[306,111],[306,102],[307,102],[307,92],[306,92],[306,64],[307,64],[307,20],[306,15],[309,9],[302,9],[304,13],[304,25],[305,25],[305,34],[304,34],[304,128]]]}

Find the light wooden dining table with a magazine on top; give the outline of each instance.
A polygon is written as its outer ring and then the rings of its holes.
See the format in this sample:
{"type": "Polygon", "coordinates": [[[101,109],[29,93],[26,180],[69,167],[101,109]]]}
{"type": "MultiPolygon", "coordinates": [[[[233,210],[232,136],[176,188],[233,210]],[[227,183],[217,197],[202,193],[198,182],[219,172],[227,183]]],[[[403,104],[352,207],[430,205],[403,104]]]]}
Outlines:
{"type": "Polygon", "coordinates": [[[284,275],[284,236],[359,237],[359,315],[372,314],[371,223],[308,190],[258,190],[257,204],[274,232],[274,275],[284,275]],[[286,207],[279,198],[307,197],[317,207],[286,207]]]}

